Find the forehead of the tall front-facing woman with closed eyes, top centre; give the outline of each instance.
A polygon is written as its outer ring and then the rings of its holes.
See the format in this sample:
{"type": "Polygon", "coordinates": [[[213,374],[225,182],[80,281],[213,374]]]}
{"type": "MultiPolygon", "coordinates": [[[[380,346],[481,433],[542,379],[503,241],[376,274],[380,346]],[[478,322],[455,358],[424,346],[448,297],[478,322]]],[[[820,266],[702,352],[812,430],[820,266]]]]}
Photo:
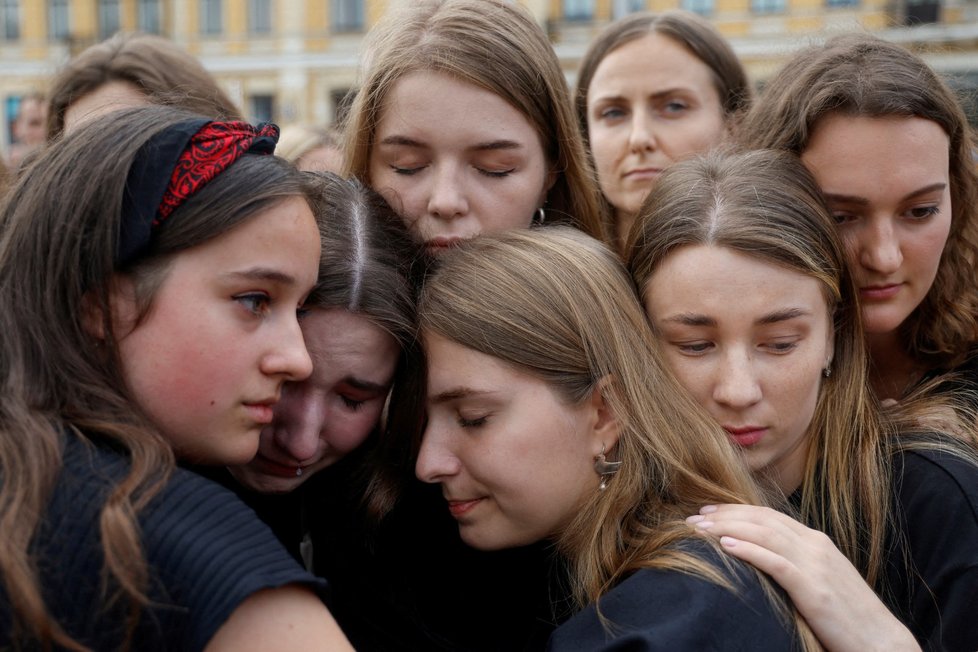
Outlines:
{"type": "Polygon", "coordinates": [[[535,142],[527,117],[492,91],[440,72],[419,71],[398,79],[381,107],[375,139],[391,134],[432,143],[535,142]]]}

